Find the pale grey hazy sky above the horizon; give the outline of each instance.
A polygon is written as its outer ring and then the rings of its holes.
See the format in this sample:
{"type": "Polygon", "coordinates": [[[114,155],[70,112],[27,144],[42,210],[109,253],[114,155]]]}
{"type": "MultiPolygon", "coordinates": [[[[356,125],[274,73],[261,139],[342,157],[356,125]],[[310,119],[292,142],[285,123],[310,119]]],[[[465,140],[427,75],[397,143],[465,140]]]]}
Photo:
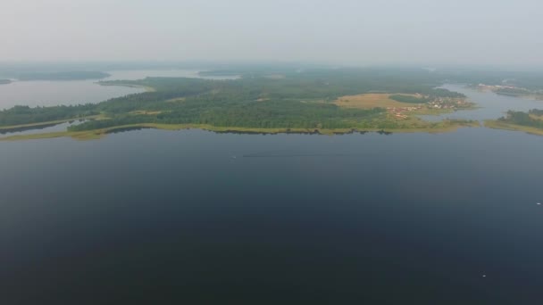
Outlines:
{"type": "Polygon", "coordinates": [[[543,64],[542,0],[4,0],[0,61],[543,64]]]}

